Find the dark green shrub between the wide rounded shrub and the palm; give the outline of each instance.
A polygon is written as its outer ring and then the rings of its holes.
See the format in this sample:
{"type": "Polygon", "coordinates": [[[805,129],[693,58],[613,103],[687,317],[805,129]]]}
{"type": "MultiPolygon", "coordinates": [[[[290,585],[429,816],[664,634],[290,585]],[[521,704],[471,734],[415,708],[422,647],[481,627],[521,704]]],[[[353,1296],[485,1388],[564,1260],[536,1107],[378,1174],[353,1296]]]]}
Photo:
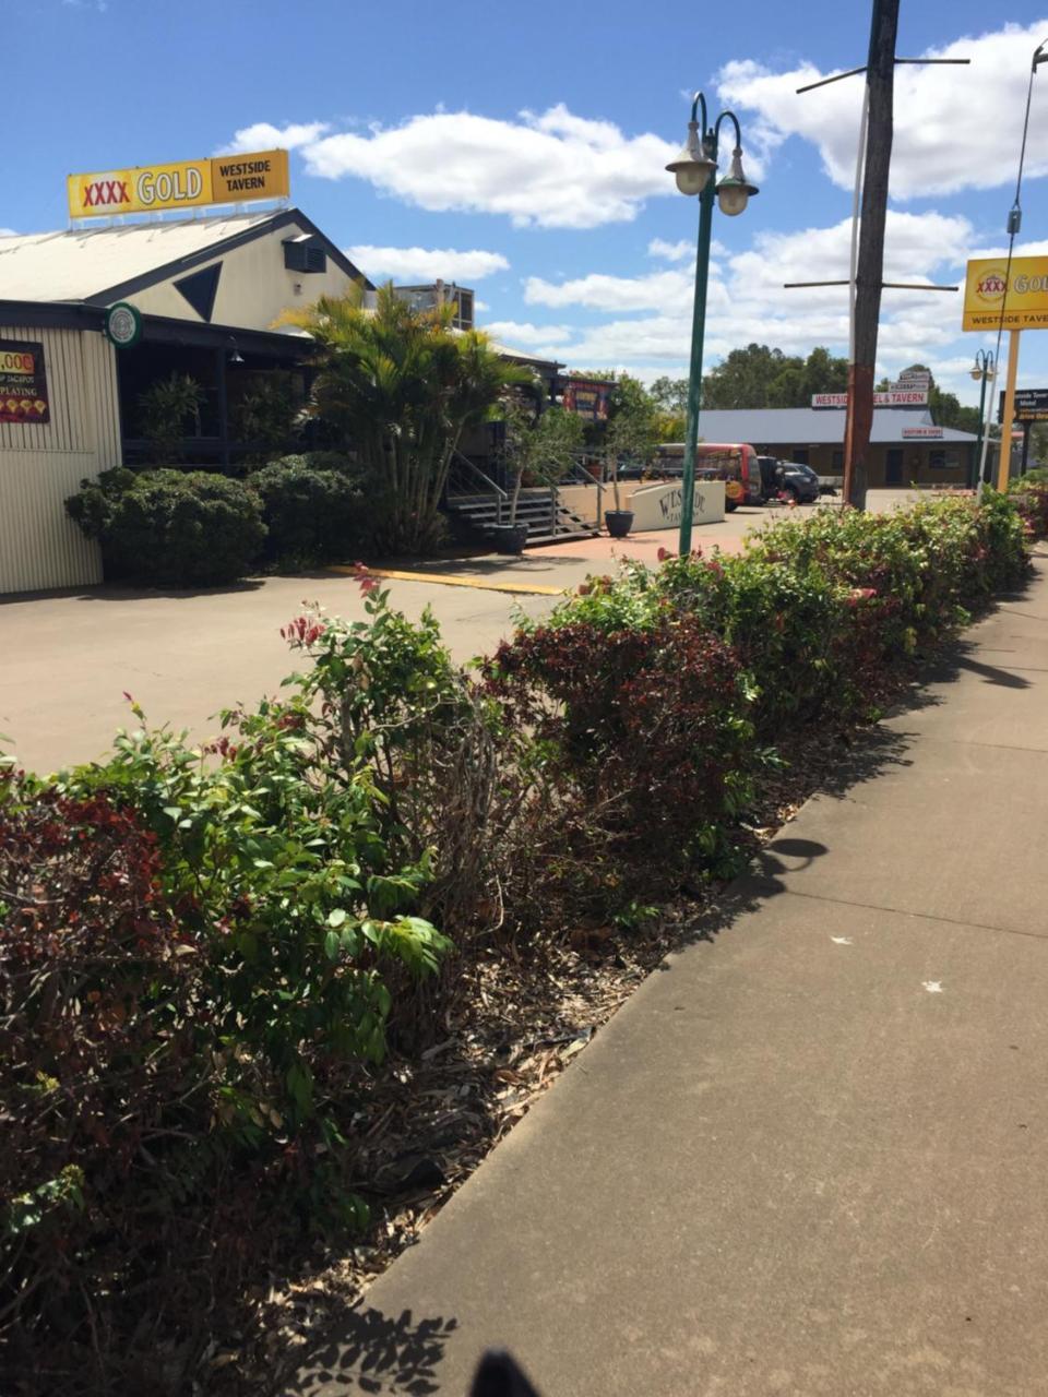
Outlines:
{"type": "MultiPolygon", "coordinates": [[[[326,453],[314,455],[326,460],[326,453]]],[[[366,496],[348,469],[286,455],[256,471],[247,485],[263,503],[271,562],[323,563],[359,552],[366,496]]]]}

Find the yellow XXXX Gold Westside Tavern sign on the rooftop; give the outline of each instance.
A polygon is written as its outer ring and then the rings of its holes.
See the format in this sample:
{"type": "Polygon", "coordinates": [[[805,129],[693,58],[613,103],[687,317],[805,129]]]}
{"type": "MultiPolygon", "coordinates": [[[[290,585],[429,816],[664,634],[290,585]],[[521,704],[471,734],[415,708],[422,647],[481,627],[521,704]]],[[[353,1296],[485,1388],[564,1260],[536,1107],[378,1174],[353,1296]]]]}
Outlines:
{"type": "Polygon", "coordinates": [[[286,151],[221,155],[173,165],[70,175],[66,180],[70,218],[155,214],[204,204],[240,204],[256,198],[286,198],[291,184],[286,151]]]}

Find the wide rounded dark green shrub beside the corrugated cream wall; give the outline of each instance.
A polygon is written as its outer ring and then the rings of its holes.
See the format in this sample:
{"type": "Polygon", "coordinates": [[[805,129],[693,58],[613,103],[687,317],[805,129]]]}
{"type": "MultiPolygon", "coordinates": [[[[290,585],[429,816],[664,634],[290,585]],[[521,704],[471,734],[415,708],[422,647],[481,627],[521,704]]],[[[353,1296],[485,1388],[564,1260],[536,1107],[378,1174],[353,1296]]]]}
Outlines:
{"type": "Polygon", "coordinates": [[[205,471],[106,471],[82,481],[66,509],[102,545],[106,577],[136,583],[232,583],[265,539],[259,497],[205,471]]]}

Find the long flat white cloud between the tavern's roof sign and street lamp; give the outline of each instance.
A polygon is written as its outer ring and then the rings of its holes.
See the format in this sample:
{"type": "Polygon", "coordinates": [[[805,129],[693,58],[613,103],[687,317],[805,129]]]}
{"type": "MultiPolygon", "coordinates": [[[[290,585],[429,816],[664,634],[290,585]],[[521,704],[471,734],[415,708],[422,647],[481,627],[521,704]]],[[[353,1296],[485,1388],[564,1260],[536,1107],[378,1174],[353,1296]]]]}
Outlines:
{"type": "Polygon", "coordinates": [[[626,136],[563,103],[521,112],[518,120],[437,110],[366,134],[326,134],[323,123],[279,131],[263,122],[238,131],[233,148],[288,144],[288,133],[310,175],[365,179],[436,212],[503,214],[520,228],[627,222],[651,196],[675,193],[664,169],[676,152],[672,142],[626,136]]]}

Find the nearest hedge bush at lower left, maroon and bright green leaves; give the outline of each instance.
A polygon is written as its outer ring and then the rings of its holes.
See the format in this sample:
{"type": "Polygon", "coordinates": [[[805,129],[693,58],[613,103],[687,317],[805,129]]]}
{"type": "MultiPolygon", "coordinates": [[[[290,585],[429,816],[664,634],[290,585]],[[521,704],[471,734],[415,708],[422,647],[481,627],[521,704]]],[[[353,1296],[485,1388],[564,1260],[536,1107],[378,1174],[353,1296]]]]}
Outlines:
{"type": "Polygon", "coordinates": [[[198,1252],[219,1206],[366,1217],[341,1157],[393,986],[447,950],[429,859],[390,854],[299,687],[225,722],[204,753],[141,726],[0,787],[0,1310],[24,1330],[54,1287],[64,1330],[89,1323],[84,1295],[198,1252]]]}

